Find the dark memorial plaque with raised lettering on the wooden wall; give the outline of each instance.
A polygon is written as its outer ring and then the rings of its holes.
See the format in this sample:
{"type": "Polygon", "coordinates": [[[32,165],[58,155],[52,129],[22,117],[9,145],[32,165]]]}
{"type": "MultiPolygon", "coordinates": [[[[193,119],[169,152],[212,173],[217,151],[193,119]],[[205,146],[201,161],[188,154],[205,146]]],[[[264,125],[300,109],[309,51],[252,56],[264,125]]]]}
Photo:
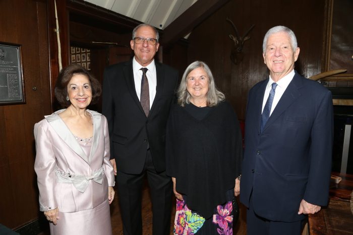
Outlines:
{"type": "Polygon", "coordinates": [[[0,105],[24,102],[21,46],[0,42],[0,105]]]}

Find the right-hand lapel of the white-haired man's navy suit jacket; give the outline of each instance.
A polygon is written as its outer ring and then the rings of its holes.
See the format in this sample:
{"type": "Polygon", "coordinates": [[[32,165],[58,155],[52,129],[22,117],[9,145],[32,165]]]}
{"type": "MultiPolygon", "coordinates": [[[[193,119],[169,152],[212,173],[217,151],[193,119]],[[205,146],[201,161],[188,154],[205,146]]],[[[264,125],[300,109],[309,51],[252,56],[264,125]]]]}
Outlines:
{"type": "Polygon", "coordinates": [[[270,126],[275,120],[295,101],[301,96],[299,88],[302,87],[302,81],[300,75],[296,72],[292,81],[289,83],[287,89],[285,89],[281,99],[273,110],[270,118],[268,119],[263,131],[270,126]]]}

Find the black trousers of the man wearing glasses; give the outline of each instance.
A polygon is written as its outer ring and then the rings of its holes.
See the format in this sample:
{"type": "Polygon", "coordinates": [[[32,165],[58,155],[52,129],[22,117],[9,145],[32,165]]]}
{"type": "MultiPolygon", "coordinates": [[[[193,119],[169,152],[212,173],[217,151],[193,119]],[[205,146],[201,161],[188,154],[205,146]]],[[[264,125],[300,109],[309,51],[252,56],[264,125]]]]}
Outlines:
{"type": "MultiPolygon", "coordinates": [[[[116,164],[119,164],[118,162],[116,164]]],[[[142,186],[147,174],[152,200],[153,235],[169,234],[172,185],[165,172],[157,173],[149,150],[141,174],[131,175],[117,171],[116,183],[123,220],[124,235],[142,234],[142,186]]]]}

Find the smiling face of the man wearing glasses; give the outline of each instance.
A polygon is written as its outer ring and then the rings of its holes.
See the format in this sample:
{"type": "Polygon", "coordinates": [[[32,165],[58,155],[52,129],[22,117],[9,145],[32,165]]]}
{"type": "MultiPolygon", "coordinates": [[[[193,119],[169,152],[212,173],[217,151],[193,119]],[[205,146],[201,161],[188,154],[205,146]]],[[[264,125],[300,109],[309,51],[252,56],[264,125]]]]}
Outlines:
{"type": "MultiPolygon", "coordinates": [[[[156,38],[154,30],[149,26],[141,26],[136,30],[135,37],[141,38],[156,38]]],[[[137,44],[134,40],[130,41],[131,49],[134,50],[136,61],[141,64],[141,66],[146,67],[150,64],[154,58],[154,55],[158,51],[159,43],[155,45],[150,45],[147,40],[142,44],[137,44]]]]}

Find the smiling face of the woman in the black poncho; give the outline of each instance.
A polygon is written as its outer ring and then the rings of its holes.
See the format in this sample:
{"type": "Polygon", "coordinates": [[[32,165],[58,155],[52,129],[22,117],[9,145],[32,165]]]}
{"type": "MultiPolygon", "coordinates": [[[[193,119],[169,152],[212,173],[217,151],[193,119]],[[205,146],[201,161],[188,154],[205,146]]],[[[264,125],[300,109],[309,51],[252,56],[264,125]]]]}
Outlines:
{"type": "Polygon", "coordinates": [[[209,77],[203,67],[192,70],[186,77],[187,90],[193,100],[206,101],[209,89],[209,77]]]}

